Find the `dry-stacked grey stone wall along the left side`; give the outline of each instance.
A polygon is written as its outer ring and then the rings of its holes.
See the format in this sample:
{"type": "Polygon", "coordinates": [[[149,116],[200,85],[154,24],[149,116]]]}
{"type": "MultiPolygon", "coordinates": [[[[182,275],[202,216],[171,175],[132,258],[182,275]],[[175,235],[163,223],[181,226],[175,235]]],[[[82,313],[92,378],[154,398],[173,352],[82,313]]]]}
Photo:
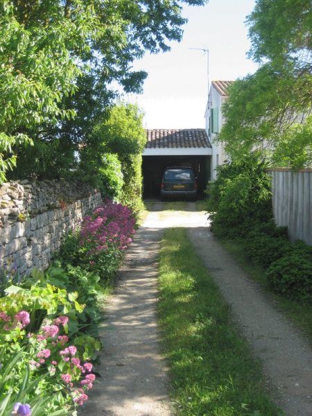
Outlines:
{"type": "Polygon", "coordinates": [[[62,236],[102,202],[86,184],[64,181],[8,182],[0,187],[0,268],[24,274],[45,269],[62,236]]]}

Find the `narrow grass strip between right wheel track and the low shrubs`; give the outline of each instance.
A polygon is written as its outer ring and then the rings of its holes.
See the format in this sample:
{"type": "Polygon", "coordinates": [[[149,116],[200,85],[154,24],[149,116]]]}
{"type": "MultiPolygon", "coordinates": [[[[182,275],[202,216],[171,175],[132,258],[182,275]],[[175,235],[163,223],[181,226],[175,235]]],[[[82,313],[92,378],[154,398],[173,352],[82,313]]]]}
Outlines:
{"type": "Polygon", "coordinates": [[[275,306],[280,309],[284,315],[299,328],[306,338],[312,342],[312,306],[300,304],[294,300],[272,293],[266,280],[266,272],[263,268],[255,265],[245,253],[243,241],[235,240],[219,240],[223,247],[235,257],[237,263],[248,273],[248,275],[257,281],[266,291],[270,292],[275,300],[275,306]]]}

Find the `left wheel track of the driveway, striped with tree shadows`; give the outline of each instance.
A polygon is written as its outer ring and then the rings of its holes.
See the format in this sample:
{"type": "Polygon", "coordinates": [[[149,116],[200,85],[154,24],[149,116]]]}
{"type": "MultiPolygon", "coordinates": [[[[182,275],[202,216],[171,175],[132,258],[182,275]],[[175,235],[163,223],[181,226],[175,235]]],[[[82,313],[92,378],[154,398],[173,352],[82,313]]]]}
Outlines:
{"type": "Polygon", "coordinates": [[[143,226],[130,245],[101,326],[101,379],[80,415],[170,414],[155,315],[161,236],[161,229],[143,226]]]}

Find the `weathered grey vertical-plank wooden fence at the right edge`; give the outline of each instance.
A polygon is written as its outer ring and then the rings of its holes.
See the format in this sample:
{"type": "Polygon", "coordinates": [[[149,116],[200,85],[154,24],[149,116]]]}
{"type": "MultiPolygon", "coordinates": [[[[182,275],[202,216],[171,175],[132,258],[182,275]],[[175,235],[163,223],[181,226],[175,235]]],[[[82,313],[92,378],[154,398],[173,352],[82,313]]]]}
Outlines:
{"type": "Polygon", "coordinates": [[[312,169],[275,169],[271,173],[275,222],[288,227],[292,240],[312,245],[312,169]]]}

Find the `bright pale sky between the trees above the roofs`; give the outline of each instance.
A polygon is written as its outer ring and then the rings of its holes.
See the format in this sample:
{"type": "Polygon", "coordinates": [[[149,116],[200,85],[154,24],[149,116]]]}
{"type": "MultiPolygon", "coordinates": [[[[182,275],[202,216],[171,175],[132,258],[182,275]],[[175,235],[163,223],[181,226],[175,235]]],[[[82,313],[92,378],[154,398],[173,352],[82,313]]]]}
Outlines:
{"type": "Polygon", "coordinates": [[[127,94],[144,112],[145,128],[205,128],[207,103],[207,54],[190,48],[209,49],[209,80],[235,80],[254,73],[248,60],[250,48],[245,17],[254,0],[209,0],[206,6],[185,6],[182,42],[171,42],[171,51],[146,54],[133,64],[148,72],[144,92],[127,94]]]}

